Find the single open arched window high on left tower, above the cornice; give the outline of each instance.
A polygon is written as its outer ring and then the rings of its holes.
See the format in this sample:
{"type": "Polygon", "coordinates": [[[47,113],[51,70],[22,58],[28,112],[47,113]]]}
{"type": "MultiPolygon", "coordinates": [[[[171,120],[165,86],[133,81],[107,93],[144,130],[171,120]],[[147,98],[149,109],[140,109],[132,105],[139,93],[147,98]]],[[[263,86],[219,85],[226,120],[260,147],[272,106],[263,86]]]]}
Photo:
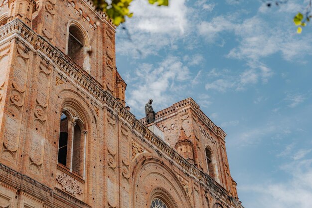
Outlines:
{"type": "Polygon", "coordinates": [[[89,41],[80,27],[70,24],[68,30],[67,55],[81,68],[90,71],[89,41]]]}

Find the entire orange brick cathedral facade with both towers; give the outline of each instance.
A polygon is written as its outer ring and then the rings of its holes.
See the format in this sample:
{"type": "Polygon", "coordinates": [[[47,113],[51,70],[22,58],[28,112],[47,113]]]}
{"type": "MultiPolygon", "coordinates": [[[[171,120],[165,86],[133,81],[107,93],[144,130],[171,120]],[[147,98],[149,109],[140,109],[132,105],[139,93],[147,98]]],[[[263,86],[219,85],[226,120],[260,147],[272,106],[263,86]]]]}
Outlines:
{"type": "Polygon", "coordinates": [[[126,107],[115,29],[90,0],[0,0],[0,208],[243,208],[194,100],[126,107]]]}

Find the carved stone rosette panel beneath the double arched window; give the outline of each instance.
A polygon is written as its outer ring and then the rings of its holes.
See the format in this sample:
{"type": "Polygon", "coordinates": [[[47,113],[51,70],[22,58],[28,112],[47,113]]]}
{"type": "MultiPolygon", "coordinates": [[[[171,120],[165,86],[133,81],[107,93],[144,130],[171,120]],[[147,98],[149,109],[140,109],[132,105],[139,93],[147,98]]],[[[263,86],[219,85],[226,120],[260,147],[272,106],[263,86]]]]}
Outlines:
{"type": "Polygon", "coordinates": [[[56,177],[57,182],[62,185],[62,190],[68,192],[74,197],[82,194],[82,189],[77,184],[77,181],[66,174],[61,174],[56,177]]]}

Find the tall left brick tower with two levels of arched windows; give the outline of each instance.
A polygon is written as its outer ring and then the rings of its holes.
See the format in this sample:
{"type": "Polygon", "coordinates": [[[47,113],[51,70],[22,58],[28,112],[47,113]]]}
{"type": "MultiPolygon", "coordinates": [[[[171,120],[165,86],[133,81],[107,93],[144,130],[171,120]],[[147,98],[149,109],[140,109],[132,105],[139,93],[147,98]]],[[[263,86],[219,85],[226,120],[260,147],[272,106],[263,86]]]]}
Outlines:
{"type": "Polygon", "coordinates": [[[90,0],[0,0],[0,207],[104,203],[103,102],[126,103],[115,29],[90,0]]]}

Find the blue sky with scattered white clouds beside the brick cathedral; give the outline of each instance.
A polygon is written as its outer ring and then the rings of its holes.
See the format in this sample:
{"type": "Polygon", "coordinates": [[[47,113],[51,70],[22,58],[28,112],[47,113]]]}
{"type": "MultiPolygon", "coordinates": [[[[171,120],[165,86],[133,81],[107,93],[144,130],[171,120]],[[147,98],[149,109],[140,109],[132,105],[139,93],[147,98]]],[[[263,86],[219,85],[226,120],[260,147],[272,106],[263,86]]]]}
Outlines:
{"type": "Polygon", "coordinates": [[[245,208],[312,207],[312,25],[304,0],[134,0],[119,28],[117,66],[131,111],[192,97],[226,133],[245,208]]]}

